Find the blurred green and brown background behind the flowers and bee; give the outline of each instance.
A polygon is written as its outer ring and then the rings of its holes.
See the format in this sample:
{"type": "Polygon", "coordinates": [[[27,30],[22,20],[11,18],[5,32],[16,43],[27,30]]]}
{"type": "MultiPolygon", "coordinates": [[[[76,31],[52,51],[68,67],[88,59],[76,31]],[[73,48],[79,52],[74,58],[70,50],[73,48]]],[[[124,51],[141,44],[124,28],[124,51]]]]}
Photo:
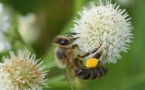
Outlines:
{"type": "MultiPolygon", "coordinates": [[[[51,88],[45,90],[70,90],[62,71],[55,66],[52,40],[58,34],[69,32],[73,27],[73,19],[79,17],[77,12],[93,0],[0,1],[23,15],[36,14],[40,37],[31,46],[50,70],[47,78],[51,88]]],[[[126,0],[128,3],[119,1],[121,8],[125,8],[132,17],[131,22],[135,28],[133,42],[128,53],[121,53],[123,58],[116,64],[106,64],[109,70],[104,78],[85,81],[88,90],[145,90],[145,0],[126,0]]]]}

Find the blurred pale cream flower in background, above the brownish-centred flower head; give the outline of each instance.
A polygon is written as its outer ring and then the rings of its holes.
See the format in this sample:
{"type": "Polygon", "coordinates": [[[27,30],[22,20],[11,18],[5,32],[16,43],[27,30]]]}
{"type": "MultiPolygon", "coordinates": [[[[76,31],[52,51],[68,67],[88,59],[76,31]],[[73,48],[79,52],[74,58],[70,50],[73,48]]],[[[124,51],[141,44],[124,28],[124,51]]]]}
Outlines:
{"type": "Polygon", "coordinates": [[[36,15],[29,13],[25,16],[19,15],[18,29],[25,41],[33,43],[39,37],[39,27],[36,25],[36,15]],[[29,33],[28,33],[29,32],[29,33]]]}

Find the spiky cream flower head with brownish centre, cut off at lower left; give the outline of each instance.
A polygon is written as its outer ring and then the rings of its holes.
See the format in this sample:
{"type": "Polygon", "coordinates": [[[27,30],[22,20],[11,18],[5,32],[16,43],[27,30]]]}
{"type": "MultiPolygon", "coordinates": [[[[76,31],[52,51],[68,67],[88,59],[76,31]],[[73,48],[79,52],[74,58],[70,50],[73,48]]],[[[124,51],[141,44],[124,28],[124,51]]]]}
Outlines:
{"type": "Polygon", "coordinates": [[[29,52],[10,52],[0,63],[0,90],[43,90],[46,71],[40,59],[29,52]]]}

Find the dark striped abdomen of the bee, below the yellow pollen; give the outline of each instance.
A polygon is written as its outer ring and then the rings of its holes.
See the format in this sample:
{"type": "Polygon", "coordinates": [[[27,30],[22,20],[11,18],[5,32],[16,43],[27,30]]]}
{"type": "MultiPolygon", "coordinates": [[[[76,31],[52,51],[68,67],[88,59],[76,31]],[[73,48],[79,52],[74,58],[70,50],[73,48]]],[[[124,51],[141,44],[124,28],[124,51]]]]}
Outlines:
{"type": "Polygon", "coordinates": [[[104,66],[97,66],[94,68],[79,68],[76,70],[78,77],[82,79],[97,79],[101,78],[107,73],[107,68],[104,66]]]}

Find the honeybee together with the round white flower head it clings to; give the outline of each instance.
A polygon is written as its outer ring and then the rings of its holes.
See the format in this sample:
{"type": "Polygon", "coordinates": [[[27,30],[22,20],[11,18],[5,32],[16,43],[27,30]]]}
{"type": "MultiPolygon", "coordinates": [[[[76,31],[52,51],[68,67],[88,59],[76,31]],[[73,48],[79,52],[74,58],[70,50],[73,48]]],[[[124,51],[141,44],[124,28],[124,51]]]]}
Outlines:
{"type": "Polygon", "coordinates": [[[67,79],[71,85],[72,76],[95,80],[106,75],[104,64],[116,63],[120,53],[127,52],[133,35],[126,10],[111,4],[111,0],[91,2],[79,15],[70,35],[54,39],[56,62],[61,69],[68,70],[66,78],[71,77],[67,79]]]}

